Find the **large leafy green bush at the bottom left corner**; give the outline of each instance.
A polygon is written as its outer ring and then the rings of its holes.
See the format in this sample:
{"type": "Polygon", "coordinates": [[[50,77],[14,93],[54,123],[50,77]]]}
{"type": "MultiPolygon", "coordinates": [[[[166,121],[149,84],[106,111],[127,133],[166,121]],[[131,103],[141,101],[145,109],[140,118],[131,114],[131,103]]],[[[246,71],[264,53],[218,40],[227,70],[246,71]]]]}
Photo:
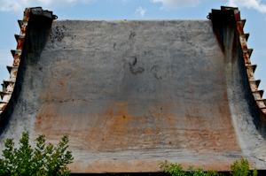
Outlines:
{"type": "Polygon", "coordinates": [[[45,145],[44,137],[39,135],[35,149],[28,144],[28,133],[22,134],[19,149],[14,149],[12,139],[4,141],[4,158],[0,158],[0,175],[70,175],[66,165],[73,163],[74,157],[71,151],[66,150],[68,135],[64,135],[56,147],[51,143],[45,145]]]}

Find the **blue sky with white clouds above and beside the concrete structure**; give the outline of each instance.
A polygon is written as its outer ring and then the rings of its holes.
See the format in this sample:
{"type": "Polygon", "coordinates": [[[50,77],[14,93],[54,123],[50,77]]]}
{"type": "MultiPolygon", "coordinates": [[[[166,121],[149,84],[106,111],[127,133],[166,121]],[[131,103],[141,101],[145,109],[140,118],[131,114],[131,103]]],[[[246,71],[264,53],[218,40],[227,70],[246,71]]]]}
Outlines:
{"type": "Polygon", "coordinates": [[[258,65],[255,78],[262,80],[259,89],[266,90],[266,0],[0,0],[0,4],[0,82],[9,79],[5,66],[12,65],[10,50],[17,46],[13,35],[20,33],[17,19],[22,19],[26,7],[42,6],[59,19],[207,19],[211,9],[229,5],[239,7],[241,19],[246,19],[247,46],[254,49],[252,64],[258,65]]]}

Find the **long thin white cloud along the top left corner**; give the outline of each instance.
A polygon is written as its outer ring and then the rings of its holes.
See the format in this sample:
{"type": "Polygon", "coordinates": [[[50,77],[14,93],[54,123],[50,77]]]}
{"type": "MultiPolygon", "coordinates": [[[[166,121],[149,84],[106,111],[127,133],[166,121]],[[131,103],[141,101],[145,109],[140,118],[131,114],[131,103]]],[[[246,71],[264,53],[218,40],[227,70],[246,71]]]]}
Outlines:
{"type": "Polygon", "coordinates": [[[89,4],[97,0],[0,0],[0,11],[24,11],[26,7],[49,6],[66,4],[89,4]]]}

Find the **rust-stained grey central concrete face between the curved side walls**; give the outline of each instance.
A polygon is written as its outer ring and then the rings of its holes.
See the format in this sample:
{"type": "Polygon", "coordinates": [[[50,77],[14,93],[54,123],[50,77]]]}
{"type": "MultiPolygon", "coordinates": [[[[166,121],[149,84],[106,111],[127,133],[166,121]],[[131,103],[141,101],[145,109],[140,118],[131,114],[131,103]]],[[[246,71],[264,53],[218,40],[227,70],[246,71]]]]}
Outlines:
{"type": "Polygon", "coordinates": [[[35,134],[70,134],[81,171],[241,150],[210,20],[55,21],[39,65],[35,134]]]}

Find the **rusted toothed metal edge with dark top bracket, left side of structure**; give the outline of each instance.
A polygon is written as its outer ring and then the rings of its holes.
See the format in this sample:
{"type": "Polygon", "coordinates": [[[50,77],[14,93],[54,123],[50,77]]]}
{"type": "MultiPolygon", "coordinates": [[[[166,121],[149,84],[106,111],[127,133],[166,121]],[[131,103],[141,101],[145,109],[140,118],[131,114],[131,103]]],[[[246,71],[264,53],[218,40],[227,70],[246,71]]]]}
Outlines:
{"type": "Polygon", "coordinates": [[[4,111],[6,105],[9,103],[12,92],[15,87],[15,82],[17,79],[17,73],[20,66],[20,57],[23,52],[23,45],[27,34],[27,24],[30,14],[37,16],[44,16],[50,19],[57,19],[56,15],[52,14],[52,11],[43,11],[42,7],[26,8],[24,11],[23,19],[18,20],[20,25],[20,34],[15,34],[15,39],[18,43],[16,50],[11,50],[12,56],[14,58],[12,66],[6,66],[8,72],[10,73],[10,79],[4,80],[1,84],[3,91],[0,92],[2,101],[0,101],[0,114],[4,111]]]}

